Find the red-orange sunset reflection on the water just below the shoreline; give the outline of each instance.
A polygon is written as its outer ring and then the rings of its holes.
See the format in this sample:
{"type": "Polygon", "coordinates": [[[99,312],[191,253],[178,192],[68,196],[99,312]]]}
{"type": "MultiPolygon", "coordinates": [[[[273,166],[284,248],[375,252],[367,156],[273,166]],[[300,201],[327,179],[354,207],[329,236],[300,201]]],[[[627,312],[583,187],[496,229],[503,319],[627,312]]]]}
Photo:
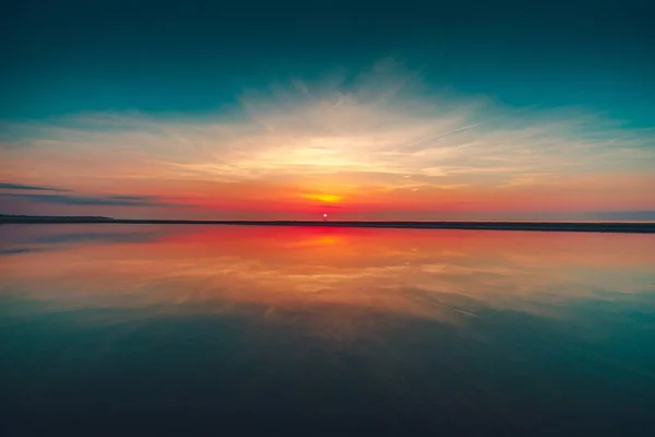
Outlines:
{"type": "Polygon", "coordinates": [[[250,312],[317,335],[357,334],[378,316],[565,317],[580,299],[639,299],[655,277],[655,239],[642,235],[127,225],[2,235],[3,293],[51,310],[250,312]]]}

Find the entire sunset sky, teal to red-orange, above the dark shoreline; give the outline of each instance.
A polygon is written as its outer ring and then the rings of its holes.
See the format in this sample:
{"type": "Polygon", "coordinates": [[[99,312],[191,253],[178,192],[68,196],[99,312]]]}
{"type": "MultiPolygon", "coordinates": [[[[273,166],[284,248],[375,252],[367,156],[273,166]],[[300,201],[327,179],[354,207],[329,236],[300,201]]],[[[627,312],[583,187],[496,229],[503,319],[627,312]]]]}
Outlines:
{"type": "Polygon", "coordinates": [[[655,220],[647,3],[13,2],[0,213],[655,220]]]}

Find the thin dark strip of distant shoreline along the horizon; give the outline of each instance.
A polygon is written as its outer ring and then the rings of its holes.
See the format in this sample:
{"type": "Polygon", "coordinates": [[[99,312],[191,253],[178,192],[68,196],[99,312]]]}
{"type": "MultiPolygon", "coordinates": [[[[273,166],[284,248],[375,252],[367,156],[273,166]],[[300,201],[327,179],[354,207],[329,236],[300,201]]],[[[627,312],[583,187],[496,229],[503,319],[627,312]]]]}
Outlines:
{"type": "Polygon", "coordinates": [[[379,227],[409,229],[485,229],[596,233],[655,233],[655,223],[626,222],[371,222],[371,221],[281,221],[281,220],[122,220],[109,217],[0,216],[0,224],[144,224],[144,225],[238,225],[238,226],[317,226],[379,227]]]}

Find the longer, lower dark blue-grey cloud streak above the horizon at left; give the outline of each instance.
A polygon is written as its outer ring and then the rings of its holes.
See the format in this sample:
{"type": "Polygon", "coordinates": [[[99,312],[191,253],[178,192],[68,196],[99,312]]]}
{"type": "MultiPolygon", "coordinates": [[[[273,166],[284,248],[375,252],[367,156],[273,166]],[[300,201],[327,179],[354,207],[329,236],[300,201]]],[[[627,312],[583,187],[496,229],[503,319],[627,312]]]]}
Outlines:
{"type": "Polygon", "coordinates": [[[182,206],[171,203],[159,196],[68,196],[68,194],[23,194],[0,193],[0,197],[22,199],[34,202],[57,203],[64,205],[94,206],[182,206]]]}

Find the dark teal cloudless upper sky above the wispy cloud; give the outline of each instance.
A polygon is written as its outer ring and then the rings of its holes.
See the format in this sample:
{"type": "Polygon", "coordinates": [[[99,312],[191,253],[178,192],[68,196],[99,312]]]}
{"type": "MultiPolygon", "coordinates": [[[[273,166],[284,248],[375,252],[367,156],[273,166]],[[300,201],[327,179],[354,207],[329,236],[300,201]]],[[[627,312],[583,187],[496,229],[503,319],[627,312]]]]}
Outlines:
{"type": "Polygon", "coordinates": [[[429,70],[431,86],[645,126],[655,117],[647,3],[13,2],[0,115],[213,110],[272,80],[393,56],[429,70]]]}

